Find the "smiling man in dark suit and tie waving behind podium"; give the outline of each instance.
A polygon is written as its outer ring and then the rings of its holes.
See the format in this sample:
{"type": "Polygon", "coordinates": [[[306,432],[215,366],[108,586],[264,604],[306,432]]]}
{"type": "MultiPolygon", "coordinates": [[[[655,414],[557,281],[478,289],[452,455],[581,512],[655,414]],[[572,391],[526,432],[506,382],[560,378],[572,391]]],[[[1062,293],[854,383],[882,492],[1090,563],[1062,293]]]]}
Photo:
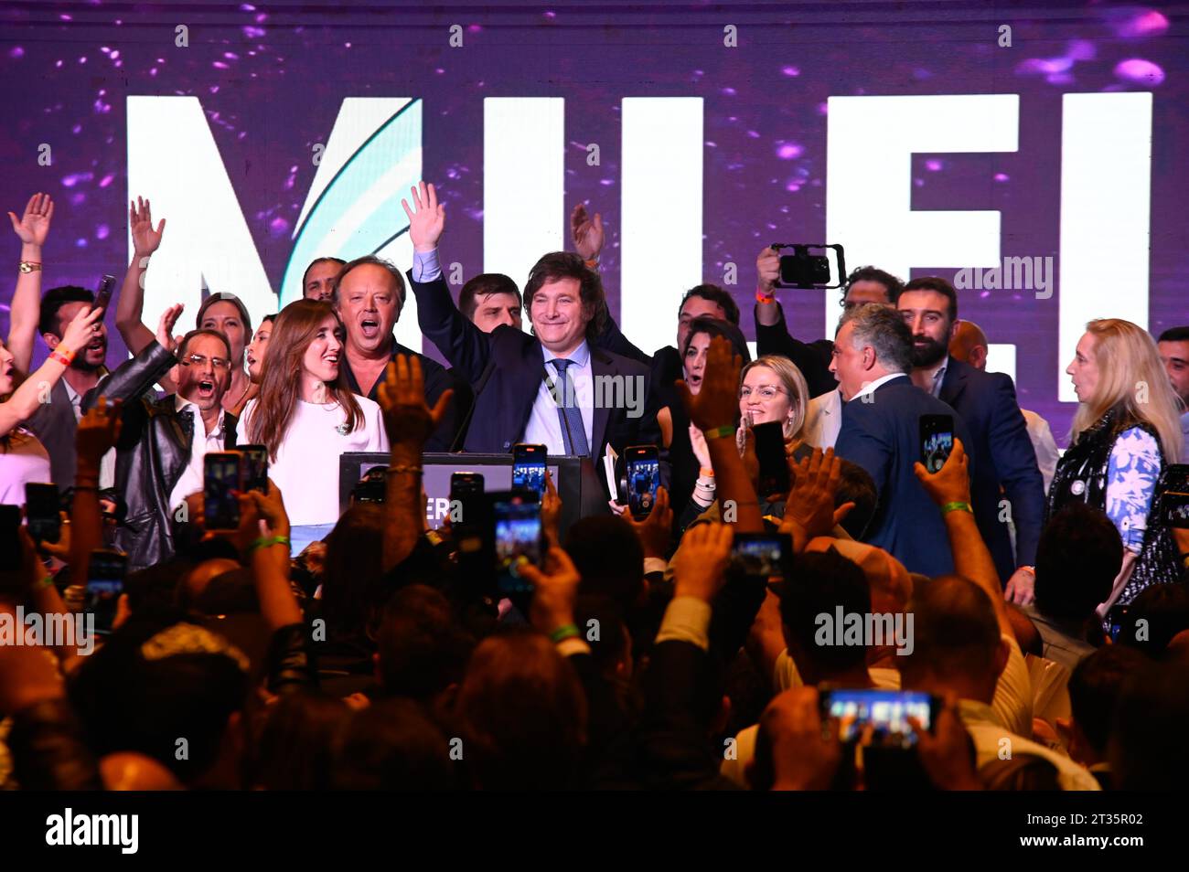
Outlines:
{"type": "MultiPolygon", "coordinates": [[[[454,305],[438,260],[445,208],[433,185],[414,191],[409,214],[417,320],[454,368],[479,384],[467,451],[502,454],[517,442],[552,455],[600,459],[606,446],[660,443],[648,368],[591,343],[603,285],[577,254],[546,254],[524,285],[534,335],[501,324],[490,334],[454,305]]],[[[662,462],[662,479],[667,463],[662,462]]],[[[602,476],[599,476],[602,480],[602,476]]]]}

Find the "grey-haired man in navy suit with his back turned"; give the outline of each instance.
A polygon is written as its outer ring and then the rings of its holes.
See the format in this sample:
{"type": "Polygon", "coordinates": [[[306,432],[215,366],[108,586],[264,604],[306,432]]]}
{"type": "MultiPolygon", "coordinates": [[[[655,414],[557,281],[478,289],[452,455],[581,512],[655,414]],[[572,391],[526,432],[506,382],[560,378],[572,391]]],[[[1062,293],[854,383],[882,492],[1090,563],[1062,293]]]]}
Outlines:
{"type": "MultiPolygon", "coordinates": [[[[842,430],[835,451],[875,480],[879,505],[864,541],[912,573],[954,571],[945,523],[913,473],[920,460],[920,416],[954,416],[954,435],[969,444],[962,418],[912,384],[912,334],[889,307],[867,303],[842,316],[830,371],[842,392],[842,430]]],[[[974,461],[971,460],[971,467],[974,461]]],[[[971,511],[963,503],[948,511],[971,511]]]]}

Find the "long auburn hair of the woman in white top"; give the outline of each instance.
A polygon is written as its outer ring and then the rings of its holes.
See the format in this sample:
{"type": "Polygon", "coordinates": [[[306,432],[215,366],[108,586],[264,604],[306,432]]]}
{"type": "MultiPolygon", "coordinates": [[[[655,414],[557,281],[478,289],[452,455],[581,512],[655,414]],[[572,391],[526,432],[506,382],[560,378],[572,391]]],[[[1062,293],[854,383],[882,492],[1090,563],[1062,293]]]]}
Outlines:
{"type": "MultiPolygon", "coordinates": [[[[272,322],[269,347],[264,352],[264,374],[260,377],[260,393],[249,426],[249,438],[269,449],[269,457],[277,460],[277,450],[292,421],[297,403],[301,402],[301,369],[306,349],[317,336],[317,328],[327,318],[334,318],[335,333],[340,341],[345,334],[342,322],[334,307],[320,299],[298,299],[277,315],[272,322]]],[[[344,348],[346,343],[344,343],[344,348]]],[[[348,432],[363,423],[363,411],[356,394],[347,386],[344,362],[339,366],[339,378],[327,383],[329,399],[338,402],[347,413],[348,432]]]]}

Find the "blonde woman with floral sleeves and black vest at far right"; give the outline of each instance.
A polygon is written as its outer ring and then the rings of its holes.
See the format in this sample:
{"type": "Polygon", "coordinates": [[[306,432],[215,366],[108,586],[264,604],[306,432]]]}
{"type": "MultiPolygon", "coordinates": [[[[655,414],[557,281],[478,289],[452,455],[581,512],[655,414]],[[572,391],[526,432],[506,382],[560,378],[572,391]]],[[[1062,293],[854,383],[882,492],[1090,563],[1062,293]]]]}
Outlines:
{"type": "Polygon", "coordinates": [[[1130,321],[1089,322],[1065,373],[1080,405],[1048,517],[1080,501],[1114,522],[1125,550],[1111,599],[1099,607],[1105,617],[1149,585],[1179,580],[1170,531],[1152,513],[1160,473],[1181,456],[1177,398],[1156,342],[1130,321]]]}

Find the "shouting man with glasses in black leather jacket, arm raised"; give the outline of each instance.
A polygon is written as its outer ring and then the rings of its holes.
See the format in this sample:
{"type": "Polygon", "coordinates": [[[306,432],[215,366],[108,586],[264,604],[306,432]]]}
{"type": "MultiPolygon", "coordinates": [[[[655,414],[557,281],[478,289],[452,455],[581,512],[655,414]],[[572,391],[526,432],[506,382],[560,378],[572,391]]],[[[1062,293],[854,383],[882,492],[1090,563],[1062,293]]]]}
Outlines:
{"type": "Polygon", "coordinates": [[[174,556],[174,522],[185,498],[202,489],[203,457],[235,447],[235,416],[224,410],[231,385],[231,343],[215,330],[191,330],[178,345],[169,339],[182,307],[165,310],[157,340],[118,366],[83,398],[83,410],[100,397],[128,398],[117,442],[115,487],[127,516],[112,543],[136,571],[174,556]],[[172,369],[177,393],[147,393],[172,369]]]}

